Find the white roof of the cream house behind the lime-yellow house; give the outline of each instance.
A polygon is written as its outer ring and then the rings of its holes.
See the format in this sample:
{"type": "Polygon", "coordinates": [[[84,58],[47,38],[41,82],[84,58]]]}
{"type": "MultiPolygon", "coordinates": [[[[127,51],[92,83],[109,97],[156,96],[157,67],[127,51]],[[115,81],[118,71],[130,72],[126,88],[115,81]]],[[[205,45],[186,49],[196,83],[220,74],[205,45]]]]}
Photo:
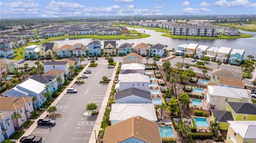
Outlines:
{"type": "Polygon", "coordinates": [[[246,89],[223,87],[223,86],[207,86],[210,95],[222,96],[230,98],[250,98],[246,89]]]}

